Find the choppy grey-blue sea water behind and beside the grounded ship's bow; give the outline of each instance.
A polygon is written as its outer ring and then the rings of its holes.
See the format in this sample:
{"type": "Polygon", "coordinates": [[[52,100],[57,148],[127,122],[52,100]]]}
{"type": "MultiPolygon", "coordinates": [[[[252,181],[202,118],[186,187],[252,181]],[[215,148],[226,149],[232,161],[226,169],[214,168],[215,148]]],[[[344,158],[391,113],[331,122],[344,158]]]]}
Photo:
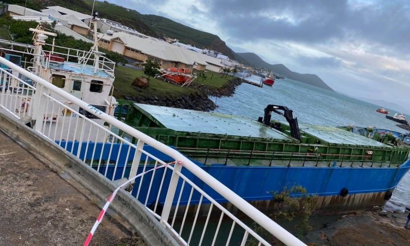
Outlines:
{"type": "MultiPolygon", "coordinates": [[[[254,82],[260,81],[260,77],[254,75],[247,79],[254,82]]],[[[263,117],[263,109],[266,105],[277,104],[292,109],[293,116],[298,118],[299,123],[376,126],[406,133],[406,130],[396,126],[396,122],[376,112],[379,107],[377,105],[291,79],[276,80],[273,87],[264,85],[263,88],[243,83],[236,89],[233,96],[210,97],[210,99],[218,105],[215,112],[242,115],[254,120],[263,117]]],[[[396,112],[392,109],[387,110],[390,111],[389,115],[396,112]]],[[[406,117],[410,119],[408,115],[406,117]]],[[[272,119],[284,121],[284,118],[277,114],[272,114],[272,119]]],[[[409,173],[399,183],[386,208],[404,210],[405,206],[410,206],[409,173]]]]}

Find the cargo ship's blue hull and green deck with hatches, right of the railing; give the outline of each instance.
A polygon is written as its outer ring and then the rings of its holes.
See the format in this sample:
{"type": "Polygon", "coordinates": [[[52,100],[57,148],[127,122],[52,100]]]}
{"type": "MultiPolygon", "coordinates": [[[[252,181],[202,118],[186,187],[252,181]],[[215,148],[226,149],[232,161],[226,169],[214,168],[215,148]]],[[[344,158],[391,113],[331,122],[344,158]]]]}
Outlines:
{"type": "Polygon", "coordinates": [[[273,192],[293,185],[317,195],[322,210],[382,207],[410,167],[409,148],[330,126],[301,124],[299,141],[286,123],[275,129],[241,116],[124,101],[116,115],[264,211],[273,192]]]}

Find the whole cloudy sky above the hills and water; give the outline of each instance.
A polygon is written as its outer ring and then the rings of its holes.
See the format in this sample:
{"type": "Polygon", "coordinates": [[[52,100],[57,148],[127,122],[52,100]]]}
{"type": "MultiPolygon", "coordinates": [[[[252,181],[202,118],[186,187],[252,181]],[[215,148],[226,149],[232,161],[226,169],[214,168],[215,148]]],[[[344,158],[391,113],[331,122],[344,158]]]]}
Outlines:
{"type": "Polygon", "coordinates": [[[338,92],[410,106],[410,1],[110,0],[315,73],[338,92]]]}

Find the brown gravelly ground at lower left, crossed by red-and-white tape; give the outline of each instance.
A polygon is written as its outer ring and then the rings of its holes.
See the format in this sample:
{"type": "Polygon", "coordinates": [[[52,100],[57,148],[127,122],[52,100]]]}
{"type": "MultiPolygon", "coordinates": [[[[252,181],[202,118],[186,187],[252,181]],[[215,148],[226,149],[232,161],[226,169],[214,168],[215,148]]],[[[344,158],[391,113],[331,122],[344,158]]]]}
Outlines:
{"type": "MultiPolygon", "coordinates": [[[[82,245],[99,212],[77,189],[0,132],[0,245],[82,245]]],[[[119,245],[130,236],[106,215],[91,244],[119,245]]]]}

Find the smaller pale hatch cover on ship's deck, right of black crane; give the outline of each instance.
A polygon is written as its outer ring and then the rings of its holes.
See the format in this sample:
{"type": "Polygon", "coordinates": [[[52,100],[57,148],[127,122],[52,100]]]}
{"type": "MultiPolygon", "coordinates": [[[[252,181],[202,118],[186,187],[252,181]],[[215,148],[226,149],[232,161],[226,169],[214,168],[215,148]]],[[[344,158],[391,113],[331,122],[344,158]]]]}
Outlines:
{"type": "Polygon", "coordinates": [[[390,146],[380,143],[376,140],[332,126],[299,123],[299,128],[301,131],[313,135],[318,139],[321,139],[330,144],[346,144],[390,148],[390,146]]]}

